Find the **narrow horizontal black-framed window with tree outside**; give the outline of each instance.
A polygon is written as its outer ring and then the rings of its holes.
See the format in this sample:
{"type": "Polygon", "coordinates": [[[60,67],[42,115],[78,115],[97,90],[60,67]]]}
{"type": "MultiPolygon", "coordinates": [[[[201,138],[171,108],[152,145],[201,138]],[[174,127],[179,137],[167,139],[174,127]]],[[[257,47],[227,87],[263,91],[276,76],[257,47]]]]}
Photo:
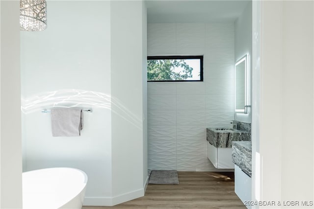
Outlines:
{"type": "Polygon", "coordinates": [[[148,56],[147,81],[203,81],[203,56],[148,56]]]}

